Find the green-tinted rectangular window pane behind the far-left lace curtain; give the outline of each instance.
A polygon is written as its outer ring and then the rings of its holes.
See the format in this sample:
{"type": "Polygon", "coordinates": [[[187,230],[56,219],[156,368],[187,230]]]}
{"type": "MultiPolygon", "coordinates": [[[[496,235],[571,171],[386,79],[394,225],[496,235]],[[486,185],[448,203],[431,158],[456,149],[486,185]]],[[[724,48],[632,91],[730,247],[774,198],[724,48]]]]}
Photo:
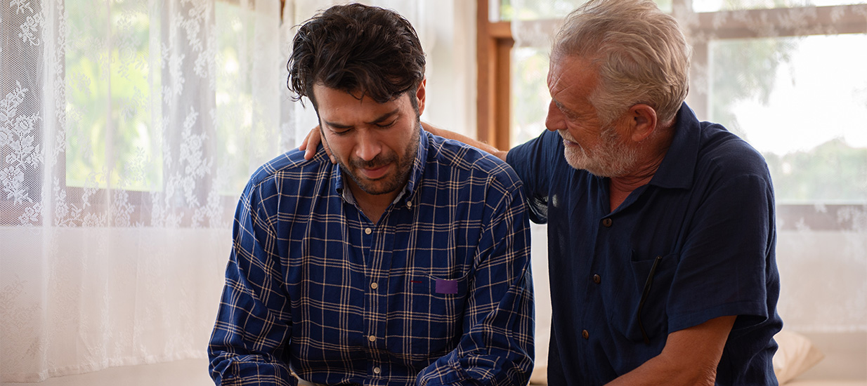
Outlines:
{"type": "Polygon", "coordinates": [[[161,186],[160,151],[150,128],[147,10],[68,2],[67,12],[66,185],[161,186]]]}

